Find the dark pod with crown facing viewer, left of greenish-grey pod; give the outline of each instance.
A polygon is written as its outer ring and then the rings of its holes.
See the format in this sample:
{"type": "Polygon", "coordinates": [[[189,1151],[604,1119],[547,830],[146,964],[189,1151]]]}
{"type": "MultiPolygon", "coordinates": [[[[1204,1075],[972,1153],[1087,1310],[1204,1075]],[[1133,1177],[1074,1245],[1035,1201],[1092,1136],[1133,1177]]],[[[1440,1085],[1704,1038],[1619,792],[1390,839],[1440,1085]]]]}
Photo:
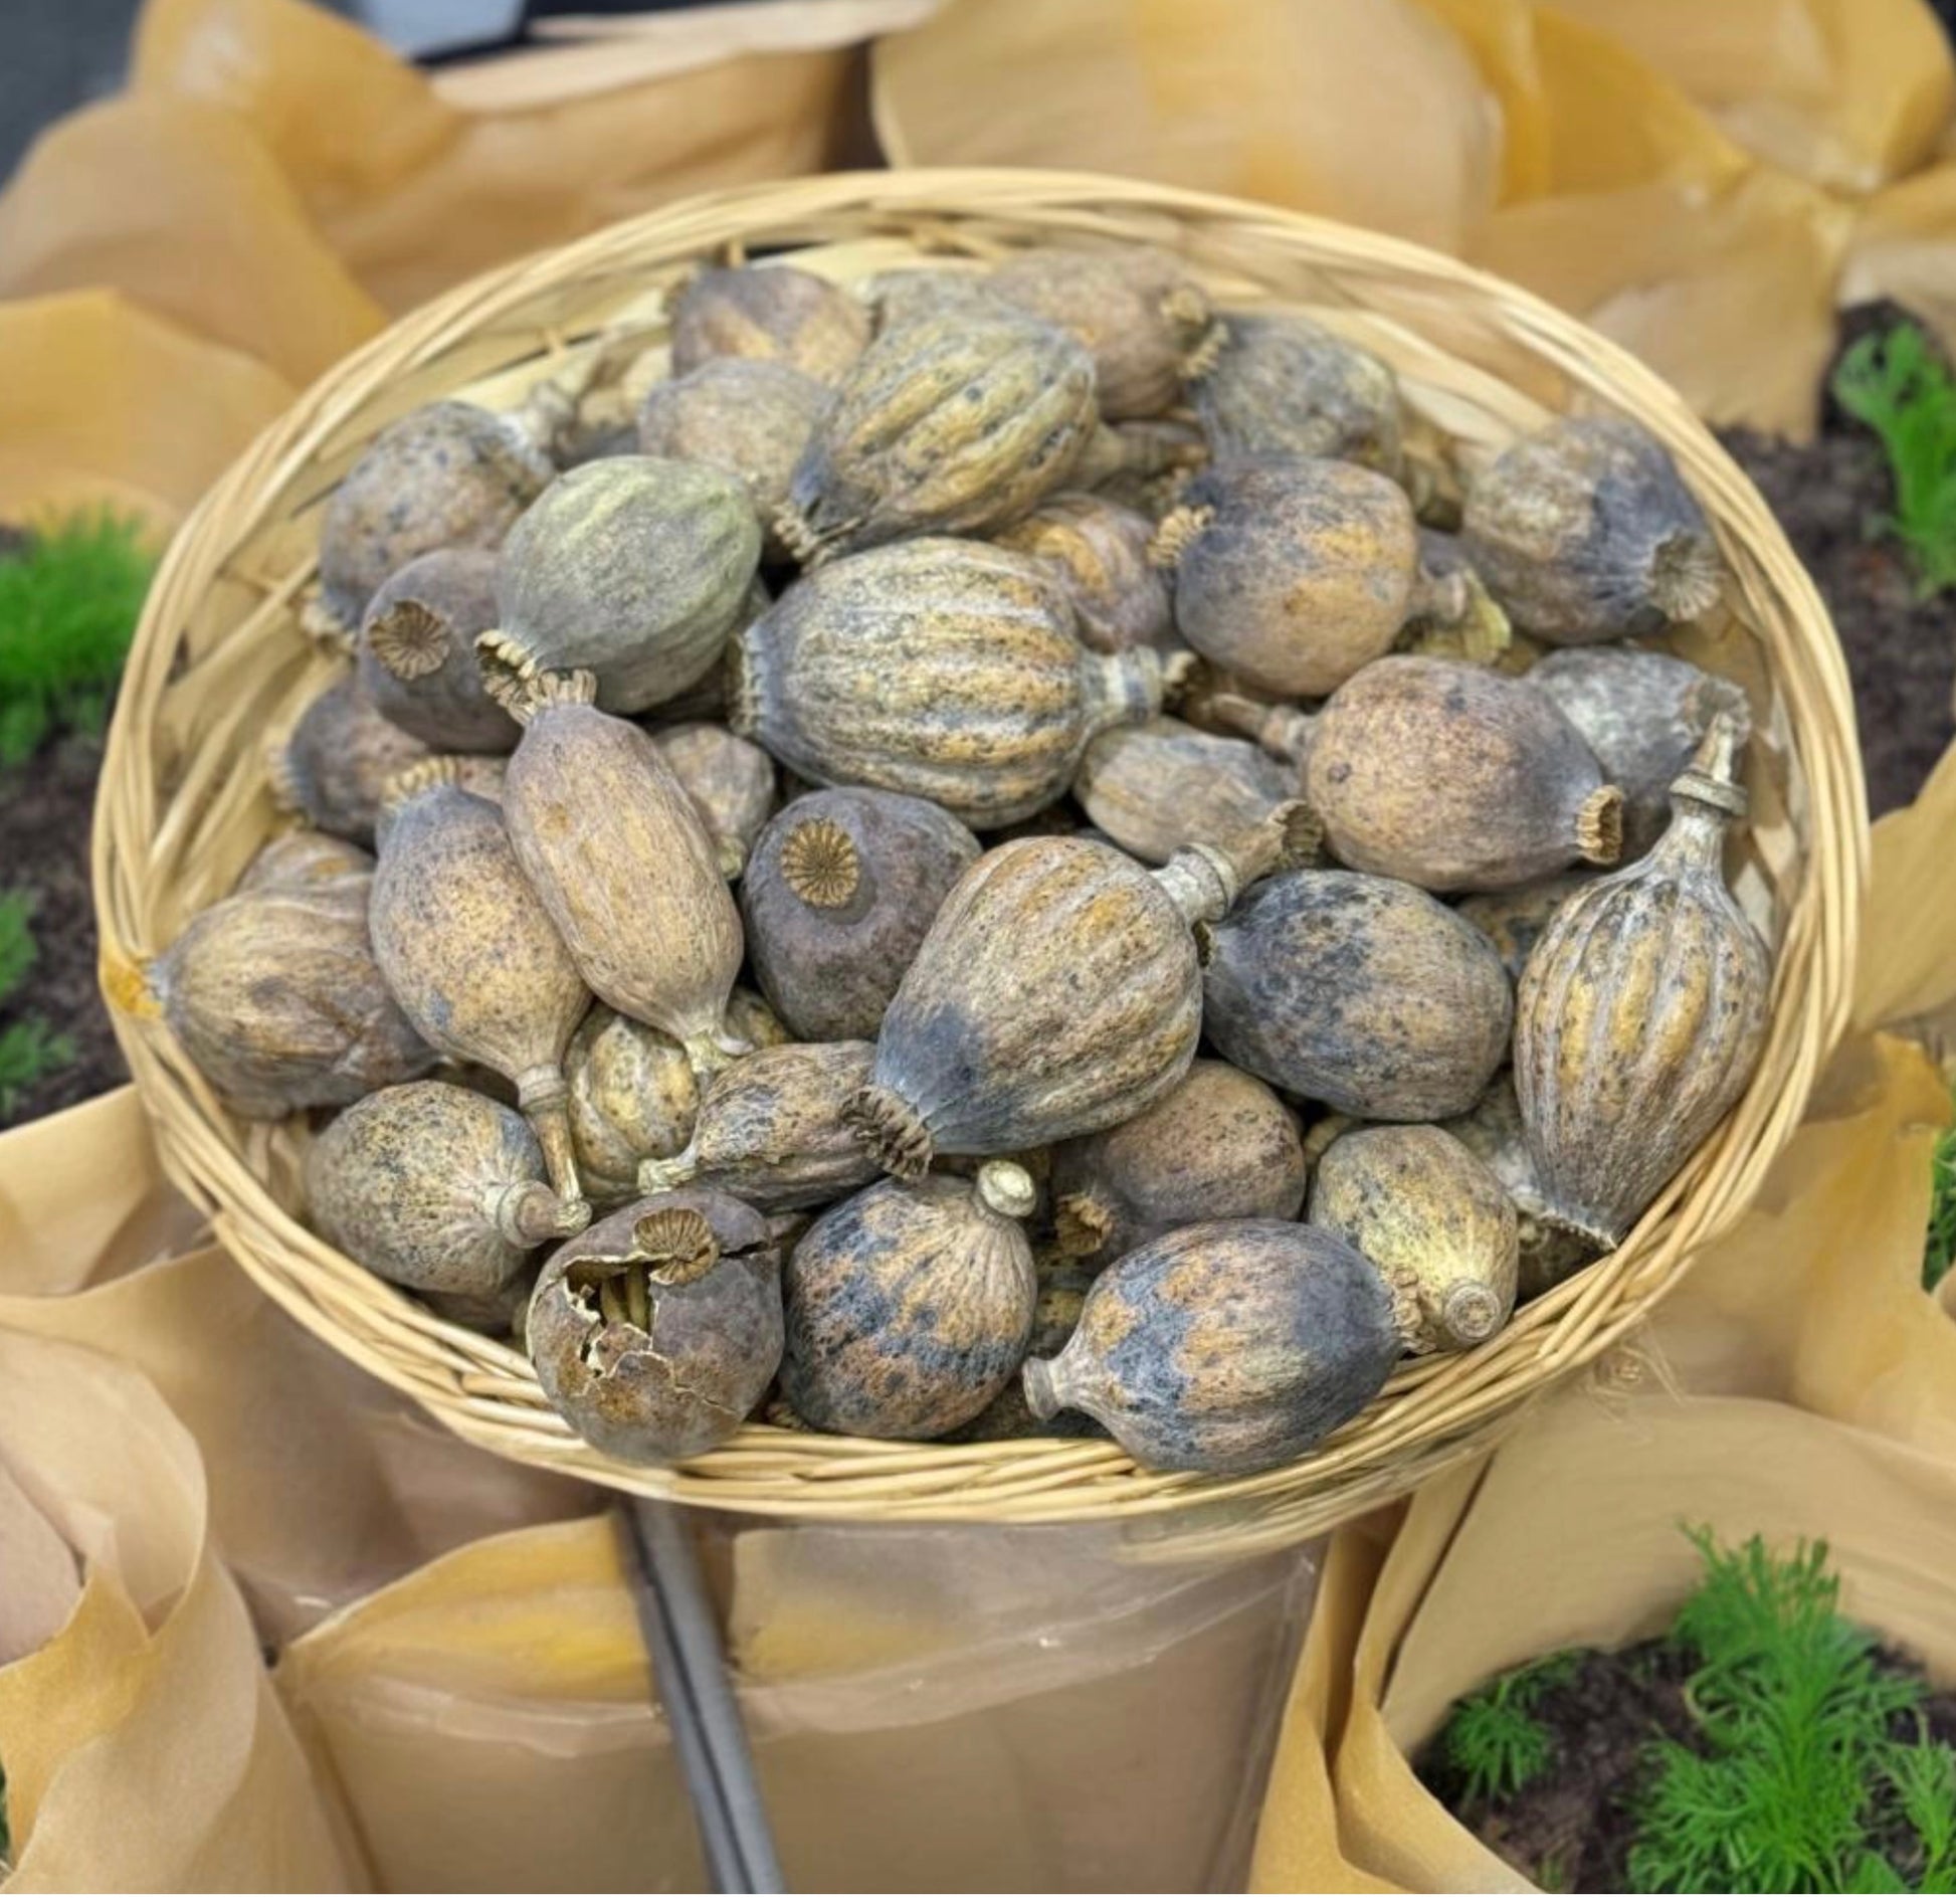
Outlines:
{"type": "Polygon", "coordinates": [[[509,753],[516,722],[483,687],[475,638],[495,626],[497,558],[438,548],[389,575],[360,618],[362,691],[405,734],[442,753],[509,753]]]}

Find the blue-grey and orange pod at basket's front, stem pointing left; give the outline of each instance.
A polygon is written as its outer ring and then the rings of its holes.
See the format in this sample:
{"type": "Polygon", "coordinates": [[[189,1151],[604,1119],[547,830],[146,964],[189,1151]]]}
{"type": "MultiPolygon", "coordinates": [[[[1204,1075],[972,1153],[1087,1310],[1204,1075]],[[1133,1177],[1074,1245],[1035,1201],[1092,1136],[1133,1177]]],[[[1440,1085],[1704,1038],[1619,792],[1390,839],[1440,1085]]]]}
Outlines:
{"type": "Polygon", "coordinates": [[[1103,1270],[1066,1348],[1025,1364],[1043,1421],[1082,1409],[1136,1462],[1254,1473],[1371,1401],[1402,1342],[1385,1278],[1309,1223],[1193,1223],[1103,1270]]]}

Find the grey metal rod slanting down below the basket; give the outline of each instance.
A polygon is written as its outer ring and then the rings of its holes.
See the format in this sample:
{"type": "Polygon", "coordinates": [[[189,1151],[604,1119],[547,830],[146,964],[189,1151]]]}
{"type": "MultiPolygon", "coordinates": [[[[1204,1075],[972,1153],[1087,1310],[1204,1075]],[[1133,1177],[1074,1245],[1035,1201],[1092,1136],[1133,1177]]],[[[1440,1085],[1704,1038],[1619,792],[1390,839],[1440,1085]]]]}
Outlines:
{"type": "Polygon", "coordinates": [[[788,1886],[685,1517],[665,1501],[640,1499],[618,1513],[632,1601],[687,1773],[706,1873],[714,1890],[777,1896],[788,1886]]]}

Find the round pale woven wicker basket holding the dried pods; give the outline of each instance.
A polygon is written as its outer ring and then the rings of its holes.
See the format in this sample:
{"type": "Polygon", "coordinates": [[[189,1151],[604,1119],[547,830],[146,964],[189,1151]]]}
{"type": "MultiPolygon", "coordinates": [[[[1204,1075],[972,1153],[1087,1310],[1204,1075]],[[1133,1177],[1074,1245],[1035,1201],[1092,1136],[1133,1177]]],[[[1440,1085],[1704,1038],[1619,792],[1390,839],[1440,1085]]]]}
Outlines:
{"type": "MultiPolygon", "coordinates": [[[[728,192],[483,278],[360,350],[272,429],[184,524],[149,599],[96,820],[104,971],[168,945],[274,830],[262,765],[333,673],[297,628],[321,499],[378,429],[467,391],[512,401],[606,333],[644,327],[708,256],[796,249],[835,278],[1029,241],[1170,247],[1226,305],[1309,309],[1389,358],[1418,419],[1469,464],[1565,409],[1629,411],[1672,450],[1729,564],[1725,603],[1680,652],[1753,695],[1753,814],[1735,869],[1776,947],[1772,1031],[1745,1102],[1608,1260],[1471,1354],[1406,1364],[1309,1458],[1232,1477],[1148,1473],[1107,1442],[888,1444],[745,1428],[673,1470],[587,1448],[522,1354],[444,1325],[291,1215],[303,1131],[219,1110],[160,1023],[117,1014],[170,1176],[307,1329],[458,1434],[638,1493],[804,1517],[1088,1520],[1193,1509],[1176,1540],[1316,1532],[1485,1444],[1549,1383],[1596,1362],[1747,1207],[1800,1119],[1848,1002],[1866,816],[1841,654],[1764,503],[1684,403],[1633,358],[1447,258],[1338,225],[1162,186],[1043,172],[880,172],[728,192]],[[1207,1530],[1207,1532],[1205,1532],[1207,1530]]],[[[111,996],[127,996],[111,978],[111,996]]],[[[1160,1532],[1166,1526],[1154,1524],[1160,1532]]],[[[1136,1528],[1138,1532],[1140,1528],[1136,1528]]]]}

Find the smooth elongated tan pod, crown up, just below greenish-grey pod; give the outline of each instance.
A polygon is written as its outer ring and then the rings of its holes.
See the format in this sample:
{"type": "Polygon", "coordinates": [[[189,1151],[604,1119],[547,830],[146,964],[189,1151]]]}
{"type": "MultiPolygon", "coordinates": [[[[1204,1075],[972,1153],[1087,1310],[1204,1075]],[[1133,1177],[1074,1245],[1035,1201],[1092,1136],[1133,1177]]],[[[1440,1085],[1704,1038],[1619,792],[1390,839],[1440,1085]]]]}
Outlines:
{"type": "Polygon", "coordinates": [[[583,669],[511,695],[522,740],[503,789],[509,839],[585,984],[679,1039],[704,1076],[749,1049],[728,1025],[739,910],[651,736],[599,712],[595,695],[583,669]]]}

